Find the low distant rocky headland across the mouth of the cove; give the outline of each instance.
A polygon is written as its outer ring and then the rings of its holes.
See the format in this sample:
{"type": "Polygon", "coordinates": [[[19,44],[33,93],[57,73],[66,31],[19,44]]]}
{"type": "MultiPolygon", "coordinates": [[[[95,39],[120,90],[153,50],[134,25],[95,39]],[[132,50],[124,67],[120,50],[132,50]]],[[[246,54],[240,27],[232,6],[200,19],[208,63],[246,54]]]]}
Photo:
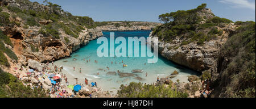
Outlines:
{"type": "Polygon", "coordinates": [[[162,23],[154,22],[131,22],[129,26],[127,23],[123,22],[109,22],[105,26],[96,27],[98,30],[102,31],[134,31],[134,30],[152,30],[157,26],[160,26],[162,23]],[[118,24],[118,26],[115,26],[118,24]]]}

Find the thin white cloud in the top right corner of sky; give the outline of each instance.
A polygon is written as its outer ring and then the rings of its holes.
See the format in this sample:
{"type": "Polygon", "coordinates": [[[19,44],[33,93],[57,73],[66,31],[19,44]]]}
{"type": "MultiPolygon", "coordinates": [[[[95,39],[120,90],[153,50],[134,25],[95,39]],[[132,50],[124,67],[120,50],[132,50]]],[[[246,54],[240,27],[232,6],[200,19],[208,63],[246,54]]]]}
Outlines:
{"type": "Polygon", "coordinates": [[[248,0],[221,0],[220,2],[232,5],[232,7],[248,8],[255,11],[255,2],[250,2],[248,0]]]}

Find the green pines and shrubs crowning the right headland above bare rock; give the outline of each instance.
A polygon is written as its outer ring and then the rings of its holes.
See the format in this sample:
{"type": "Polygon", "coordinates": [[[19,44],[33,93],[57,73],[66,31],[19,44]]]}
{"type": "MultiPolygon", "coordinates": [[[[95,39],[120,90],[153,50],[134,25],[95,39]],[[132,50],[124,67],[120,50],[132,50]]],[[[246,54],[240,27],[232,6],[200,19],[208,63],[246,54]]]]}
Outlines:
{"type": "Polygon", "coordinates": [[[206,4],[202,4],[196,9],[179,10],[159,15],[159,20],[165,22],[165,24],[154,28],[152,35],[158,36],[160,41],[165,41],[166,43],[170,43],[178,36],[183,40],[180,45],[187,45],[194,41],[197,45],[203,45],[204,41],[222,36],[223,31],[218,30],[215,26],[232,23],[232,21],[214,15],[209,19],[206,16],[201,18],[197,15],[197,12],[205,9],[206,6],[206,4]],[[206,23],[201,24],[200,22],[203,19],[206,20],[206,23]]]}

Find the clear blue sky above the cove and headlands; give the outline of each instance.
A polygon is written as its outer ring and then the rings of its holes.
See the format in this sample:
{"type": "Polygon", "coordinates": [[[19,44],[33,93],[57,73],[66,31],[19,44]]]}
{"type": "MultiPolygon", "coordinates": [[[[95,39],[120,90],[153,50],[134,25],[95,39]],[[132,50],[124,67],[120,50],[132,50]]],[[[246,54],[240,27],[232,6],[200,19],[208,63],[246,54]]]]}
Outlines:
{"type": "MultiPolygon", "coordinates": [[[[30,0],[43,3],[43,0],[30,0]]],[[[73,15],[89,16],[94,21],[159,22],[158,15],[177,10],[195,9],[207,3],[221,18],[255,21],[255,0],[48,0],[73,15]]]]}

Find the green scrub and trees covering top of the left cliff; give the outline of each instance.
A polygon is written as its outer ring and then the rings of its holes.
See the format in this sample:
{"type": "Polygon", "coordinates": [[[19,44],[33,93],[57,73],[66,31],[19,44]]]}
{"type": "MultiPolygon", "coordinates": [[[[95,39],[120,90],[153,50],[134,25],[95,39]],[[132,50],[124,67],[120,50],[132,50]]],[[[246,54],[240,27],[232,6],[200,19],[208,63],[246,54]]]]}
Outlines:
{"type": "MultiPolygon", "coordinates": [[[[22,2],[26,4],[31,4],[30,1],[16,1],[16,2],[22,2]]],[[[36,3],[36,2],[34,2],[36,3]]],[[[87,28],[94,28],[96,25],[94,24],[94,21],[92,18],[89,18],[88,16],[73,16],[69,12],[64,12],[61,9],[61,6],[53,4],[51,2],[47,2],[48,7],[50,7],[50,10],[42,10],[42,9],[28,9],[28,10],[20,10],[19,7],[14,6],[6,6],[8,10],[11,12],[14,12],[16,14],[13,14],[13,17],[16,18],[16,16],[19,16],[19,18],[22,18],[23,23],[26,26],[40,26],[42,29],[39,31],[45,36],[52,36],[56,39],[59,39],[59,29],[62,29],[67,33],[68,35],[71,35],[73,37],[79,37],[79,33],[82,30],[85,30],[84,27],[87,28]],[[50,22],[46,26],[44,24],[39,24],[39,21],[42,20],[52,20],[53,22],[50,22]],[[63,23],[65,22],[65,23],[63,23]],[[67,24],[66,24],[67,23],[67,24]]],[[[1,24],[9,24],[9,14],[5,12],[0,13],[1,18],[1,24]]],[[[17,26],[20,26],[20,23],[14,22],[17,26]]]]}

